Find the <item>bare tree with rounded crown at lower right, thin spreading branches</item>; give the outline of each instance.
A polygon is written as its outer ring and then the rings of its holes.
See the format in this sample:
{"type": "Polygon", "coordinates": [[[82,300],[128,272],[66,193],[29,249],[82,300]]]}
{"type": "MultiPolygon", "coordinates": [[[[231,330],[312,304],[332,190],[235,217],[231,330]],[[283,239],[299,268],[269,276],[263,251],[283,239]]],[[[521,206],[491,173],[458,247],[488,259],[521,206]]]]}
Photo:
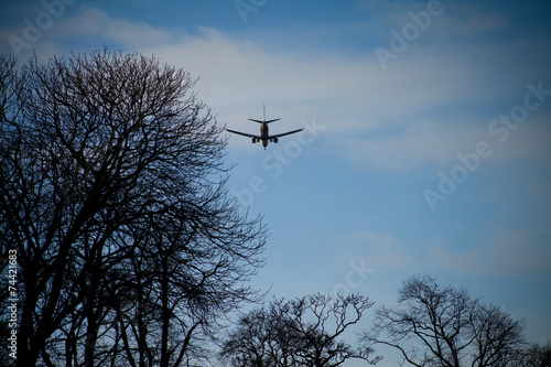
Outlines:
{"type": "Polygon", "coordinates": [[[398,294],[398,306],[377,310],[374,332],[364,334],[367,346],[395,347],[418,367],[516,366],[523,321],[429,276],[409,278],[398,294]]]}

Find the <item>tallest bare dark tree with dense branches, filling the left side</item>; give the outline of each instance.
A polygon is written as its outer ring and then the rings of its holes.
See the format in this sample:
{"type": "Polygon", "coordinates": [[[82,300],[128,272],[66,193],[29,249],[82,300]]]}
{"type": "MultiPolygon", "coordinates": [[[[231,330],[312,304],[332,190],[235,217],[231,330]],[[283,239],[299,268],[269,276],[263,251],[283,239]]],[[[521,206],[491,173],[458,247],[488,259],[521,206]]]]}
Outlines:
{"type": "Polygon", "coordinates": [[[227,198],[223,127],[195,80],[104,51],[34,57],[14,83],[0,249],[21,268],[18,366],[184,365],[195,332],[255,299],[266,241],[227,198]]]}

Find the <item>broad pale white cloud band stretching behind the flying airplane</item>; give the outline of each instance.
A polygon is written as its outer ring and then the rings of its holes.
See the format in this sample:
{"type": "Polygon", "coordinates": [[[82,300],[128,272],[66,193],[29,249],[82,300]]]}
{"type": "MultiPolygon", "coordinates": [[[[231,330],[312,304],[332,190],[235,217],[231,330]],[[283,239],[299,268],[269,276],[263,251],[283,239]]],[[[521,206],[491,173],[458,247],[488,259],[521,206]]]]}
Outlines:
{"type": "MultiPolygon", "coordinates": [[[[407,9],[406,4],[401,7],[407,9]]],[[[494,114],[479,115],[477,110],[522,93],[525,84],[532,82],[522,80],[518,73],[493,73],[496,62],[514,53],[511,45],[490,51],[484,45],[461,43],[443,51],[440,47],[445,34],[458,32],[460,26],[462,32],[480,29],[483,20],[488,19],[493,20],[490,26],[480,32],[506,23],[495,14],[471,15],[466,23],[472,28],[463,26],[444,13],[440,23],[434,21],[426,34],[420,35],[420,42],[411,42],[397,60],[389,61],[387,71],[372,48],[363,56],[274,53],[268,45],[214,29],[202,28],[197,35],[182,34],[89,7],[83,7],[75,17],[60,19],[40,46],[43,53],[48,53],[46,48],[58,53],[58,44],[64,42],[100,40],[111,50],[154,54],[194,77],[201,76],[195,88],[198,97],[228,126],[255,131],[257,127],[246,118],[259,115],[261,104],[267,102],[269,116],[282,117],[277,129],[315,117],[327,127],[323,140],[358,166],[408,170],[420,164],[442,166],[472,149],[487,134],[488,116],[494,114]],[[433,45],[421,42],[434,34],[441,41],[433,45]]],[[[496,107],[495,114],[499,112],[496,107]]]]}

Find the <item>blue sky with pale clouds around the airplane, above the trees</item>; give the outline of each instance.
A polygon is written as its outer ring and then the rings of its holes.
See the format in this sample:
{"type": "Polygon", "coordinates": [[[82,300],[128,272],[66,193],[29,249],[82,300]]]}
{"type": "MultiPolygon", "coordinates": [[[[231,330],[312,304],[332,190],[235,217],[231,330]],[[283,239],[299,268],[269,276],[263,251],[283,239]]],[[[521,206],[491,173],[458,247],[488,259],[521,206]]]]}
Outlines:
{"type": "Polygon", "coordinates": [[[228,188],[271,231],[258,288],[380,305],[430,273],[544,343],[550,15],[544,1],[3,1],[0,51],[154,54],[201,76],[220,123],[256,132],[266,102],[272,132],[309,126],[266,151],[229,140],[228,188]]]}

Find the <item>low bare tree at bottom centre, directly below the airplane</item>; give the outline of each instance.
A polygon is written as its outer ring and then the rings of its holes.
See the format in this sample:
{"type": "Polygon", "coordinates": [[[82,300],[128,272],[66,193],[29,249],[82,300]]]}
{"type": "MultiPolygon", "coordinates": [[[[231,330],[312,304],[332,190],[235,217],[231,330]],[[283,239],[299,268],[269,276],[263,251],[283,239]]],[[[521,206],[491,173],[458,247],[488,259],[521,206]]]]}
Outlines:
{"type": "Polygon", "coordinates": [[[268,309],[244,315],[224,342],[222,359],[233,366],[341,366],[348,359],[368,359],[371,348],[353,348],[341,339],[372,305],[360,295],[323,294],[274,300],[268,309]]]}

